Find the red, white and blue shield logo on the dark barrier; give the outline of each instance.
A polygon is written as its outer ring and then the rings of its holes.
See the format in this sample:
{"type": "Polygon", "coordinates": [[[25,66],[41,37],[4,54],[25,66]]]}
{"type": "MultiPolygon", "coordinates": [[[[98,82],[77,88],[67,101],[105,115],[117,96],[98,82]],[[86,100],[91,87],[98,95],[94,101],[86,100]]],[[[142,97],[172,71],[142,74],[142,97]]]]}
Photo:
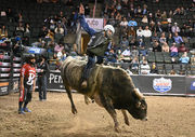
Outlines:
{"type": "Polygon", "coordinates": [[[153,88],[160,93],[169,92],[172,88],[172,81],[165,78],[154,79],[153,88]]]}

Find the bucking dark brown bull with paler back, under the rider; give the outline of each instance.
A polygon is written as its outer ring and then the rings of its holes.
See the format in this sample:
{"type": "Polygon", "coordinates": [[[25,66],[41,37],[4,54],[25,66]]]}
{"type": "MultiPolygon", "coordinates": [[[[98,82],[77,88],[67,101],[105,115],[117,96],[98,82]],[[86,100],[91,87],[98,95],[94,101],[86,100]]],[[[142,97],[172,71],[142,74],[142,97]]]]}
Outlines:
{"type": "Polygon", "coordinates": [[[121,109],[127,125],[129,125],[129,120],[126,110],[134,119],[146,120],[147,104],[123,69],[95,65],[91,69],[88,87],[82,90],[80,83],[84,65],[86,61],[73,57],[67,57],[61,65],[61,74],[70,99],[73,113],[77,113],[77,109],[70,91],[76,90],[107,110],[114,120],[116,131],[119,125],[115,109],[121,109]]]}

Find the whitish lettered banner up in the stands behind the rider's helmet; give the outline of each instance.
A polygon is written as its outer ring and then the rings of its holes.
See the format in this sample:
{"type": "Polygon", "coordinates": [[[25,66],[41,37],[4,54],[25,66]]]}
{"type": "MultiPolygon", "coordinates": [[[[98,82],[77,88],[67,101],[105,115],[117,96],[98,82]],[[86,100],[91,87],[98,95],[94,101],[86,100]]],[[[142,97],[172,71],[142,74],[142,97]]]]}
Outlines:
{"type": "Polygon", "coordinates": [[[104,27],[103,18],[86,18],[86,22],[91,28],[96,30],[102,30],[104,27]]]}

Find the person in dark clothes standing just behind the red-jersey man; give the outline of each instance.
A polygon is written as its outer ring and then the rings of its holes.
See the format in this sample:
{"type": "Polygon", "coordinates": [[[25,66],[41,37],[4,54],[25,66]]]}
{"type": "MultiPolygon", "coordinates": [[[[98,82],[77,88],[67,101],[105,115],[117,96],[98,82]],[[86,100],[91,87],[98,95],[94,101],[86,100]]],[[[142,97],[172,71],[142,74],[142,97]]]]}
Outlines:
{"type": "Polygon", "coordinates": [[[49,66],[44,56],[41,56],[37,69],[38,69],[39,100],[42,101],[42,100],[47,100],[47,72],[49,71],[49,66]]]}

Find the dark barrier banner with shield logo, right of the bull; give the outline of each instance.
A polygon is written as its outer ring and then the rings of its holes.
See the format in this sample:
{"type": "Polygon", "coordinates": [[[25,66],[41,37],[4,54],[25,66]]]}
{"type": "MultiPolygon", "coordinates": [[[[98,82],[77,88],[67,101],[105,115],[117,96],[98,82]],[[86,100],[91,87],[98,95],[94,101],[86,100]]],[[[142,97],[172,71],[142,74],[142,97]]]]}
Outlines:
{"type": "Polygon", "coordinates": [[[185,77],[131,76],[135,86],[145,95],[185,96],[185,77]]]}

